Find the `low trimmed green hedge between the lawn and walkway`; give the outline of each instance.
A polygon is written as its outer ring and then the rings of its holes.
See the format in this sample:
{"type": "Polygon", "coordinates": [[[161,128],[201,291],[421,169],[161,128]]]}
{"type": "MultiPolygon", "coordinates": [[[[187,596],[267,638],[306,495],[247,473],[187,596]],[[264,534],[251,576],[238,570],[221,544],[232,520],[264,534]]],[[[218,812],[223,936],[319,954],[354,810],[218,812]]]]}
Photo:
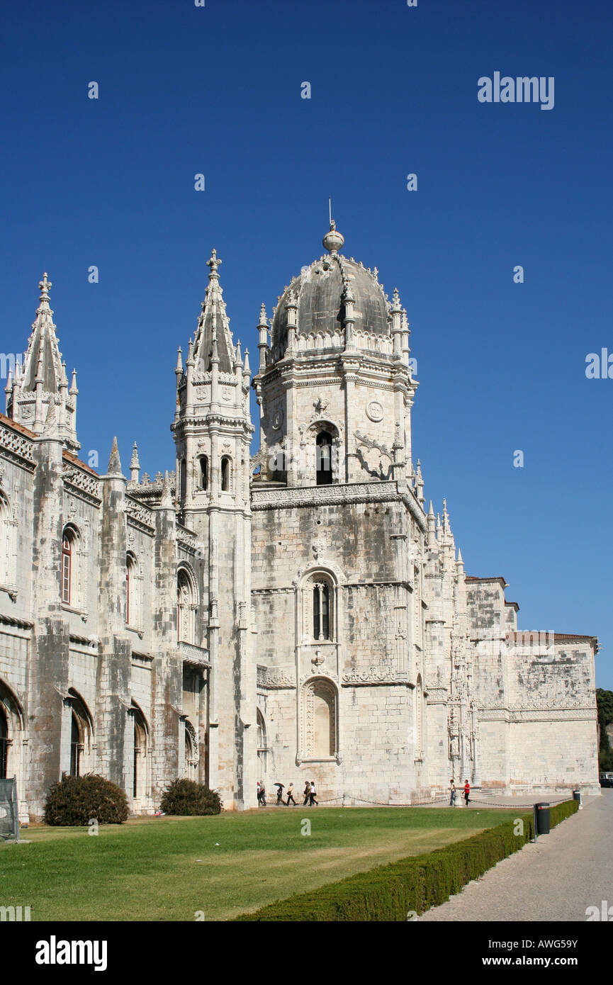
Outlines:
{"type": "MultiPolygon", "coordinates": [[[[551,826],[578,809],[577,801],[564,801],[552,807],[551,826]]],[[[427,855],[400,859],[340,883],[320,886],[271,903],[255,913],[244,913],[236,920],[404,921],[409,910],[421,914],[431,906],[438,906],[530,841],[534,836],[533,814],[518,817],[523,821],[522,834],[514,833],[514,820],[504,821],[427,855]]]]}

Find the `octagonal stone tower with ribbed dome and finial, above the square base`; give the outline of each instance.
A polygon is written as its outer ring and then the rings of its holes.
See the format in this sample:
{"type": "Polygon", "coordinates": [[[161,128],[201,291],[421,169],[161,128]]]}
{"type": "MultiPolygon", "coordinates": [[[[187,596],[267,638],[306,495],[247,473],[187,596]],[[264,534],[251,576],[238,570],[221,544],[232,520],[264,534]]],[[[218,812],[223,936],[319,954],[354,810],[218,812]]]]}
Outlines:
{"type": "Polygon", "coordinates": [[[398,291],[390,301],[376,268],[341,254],[343,243],[330,217],[323,237],[327,253],[290,280],[273,308],[270,348],[261,309],[253,379],[260,451],[263,460],[282,466],[263,469],[261,479],[308,487],[387,476],[406,489],[413,476],[411,408],[417,389],[404,345],[406,318],[398,291]],[[319,391],[317,403],[312,398],[319,391]],[[317,470],[323,446],[331,449],[323,453],[330,467],[317,470]]]}

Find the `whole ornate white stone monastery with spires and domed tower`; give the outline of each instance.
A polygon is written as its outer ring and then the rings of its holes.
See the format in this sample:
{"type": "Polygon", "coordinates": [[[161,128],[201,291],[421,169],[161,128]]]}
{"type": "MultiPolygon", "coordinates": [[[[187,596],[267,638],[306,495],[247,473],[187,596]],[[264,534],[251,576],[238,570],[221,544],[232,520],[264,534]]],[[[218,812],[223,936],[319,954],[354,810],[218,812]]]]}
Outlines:
{"type": "Polygon", "coordinates": [[[79,459],[40,301],[0,415],[0,776],[24,820],[63,771],[154,811],[170,780],[256,804],[256,781],[408,803],[449,777],[599,791],[593,636],[517,632],[471,577],[411,447],[418,382],[398,292],[339,252],[262,305],[251,380],[219,260],[183,364],[176,471],[79,459]],[[249,387],[257,394],[260,449],[249,387]]]}

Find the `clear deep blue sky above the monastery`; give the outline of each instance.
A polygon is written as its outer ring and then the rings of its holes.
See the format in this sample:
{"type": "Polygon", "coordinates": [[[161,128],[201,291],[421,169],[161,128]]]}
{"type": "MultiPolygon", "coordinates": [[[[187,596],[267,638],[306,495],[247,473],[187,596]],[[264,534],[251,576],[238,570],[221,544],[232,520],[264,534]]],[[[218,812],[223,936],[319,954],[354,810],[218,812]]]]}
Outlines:
{"type": "Polygon", "coordinates": [[[0,348],[25,348],[47,270],[83,457],[116,434],[124,471],[134,439],[171,469],[211,248],[253,365],[331,195],[407,308],[414,449],[467,573],[503,574],[523,628],[598,635],[613,688],[613,379],[585,377],[613,353],[612,27],[604,0],[6,5],[0,348]],[[554,108],[479,102],[496,71],[554,77],[554,108]]]}

